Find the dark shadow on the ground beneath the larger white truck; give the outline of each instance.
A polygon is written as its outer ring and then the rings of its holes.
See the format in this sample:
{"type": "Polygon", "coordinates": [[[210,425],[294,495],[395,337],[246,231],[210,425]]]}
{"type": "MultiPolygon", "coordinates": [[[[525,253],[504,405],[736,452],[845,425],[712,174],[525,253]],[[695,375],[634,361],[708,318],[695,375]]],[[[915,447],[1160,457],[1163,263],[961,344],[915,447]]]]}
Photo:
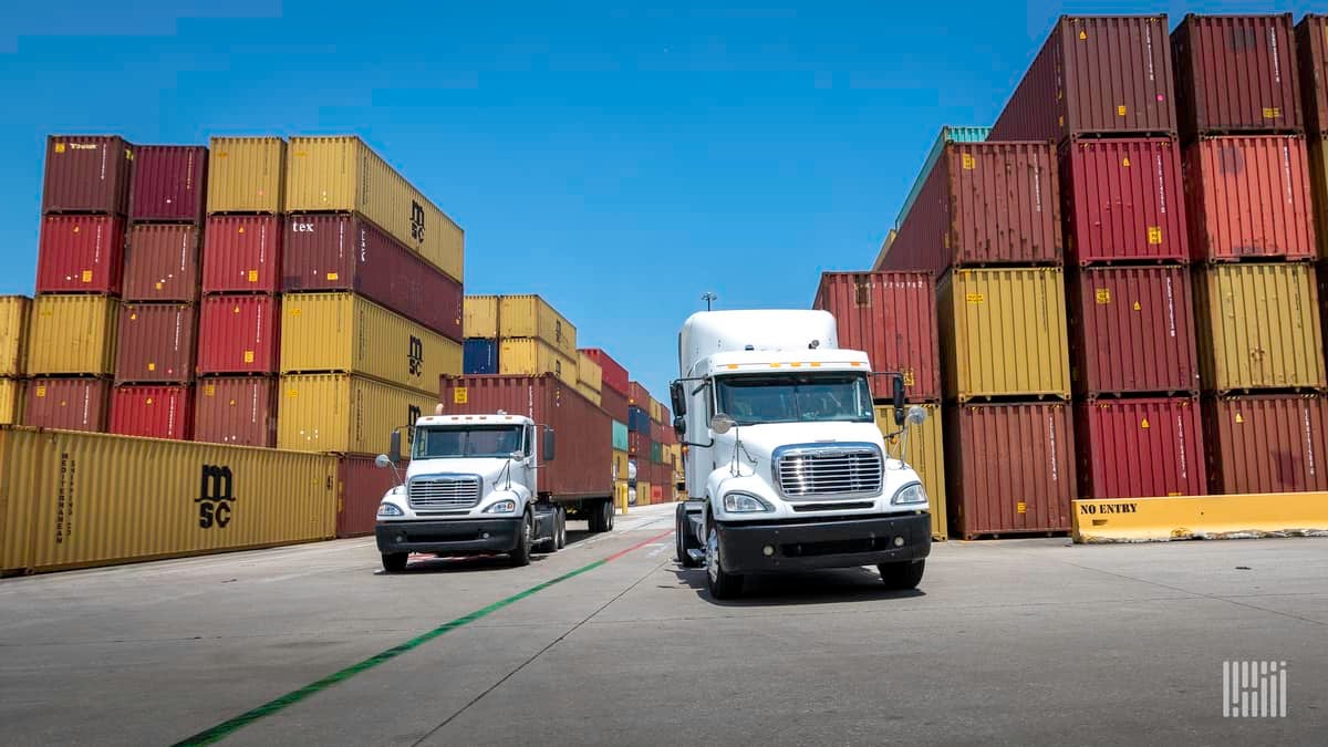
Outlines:
{"type": "Polygon", "coordinates": [[[822,605],[839,602],[871,602],[878,599],[910,599],[926,597],[920,589],[894,591],[880,582],[880,574],[867,568],[835,568],[748,576],[742,582],[742,595],[737,599],[714,599],[705,590],[705,569],[685,569],[675,564],[669,569],[679,584],[696,590],[701,599],[721,607],[780,607],[794,605],[822,605]]]}

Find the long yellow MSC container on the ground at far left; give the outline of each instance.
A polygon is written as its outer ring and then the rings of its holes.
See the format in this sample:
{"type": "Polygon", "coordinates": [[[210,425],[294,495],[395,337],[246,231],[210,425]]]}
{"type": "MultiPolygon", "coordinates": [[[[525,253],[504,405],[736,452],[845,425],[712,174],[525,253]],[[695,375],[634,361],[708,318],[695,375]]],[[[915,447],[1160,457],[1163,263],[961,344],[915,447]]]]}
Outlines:
{"type": "Polygon", "coordinates": [[[0,570],[331,538],[336,485],[321,455],[4,427],[0,570]]]}

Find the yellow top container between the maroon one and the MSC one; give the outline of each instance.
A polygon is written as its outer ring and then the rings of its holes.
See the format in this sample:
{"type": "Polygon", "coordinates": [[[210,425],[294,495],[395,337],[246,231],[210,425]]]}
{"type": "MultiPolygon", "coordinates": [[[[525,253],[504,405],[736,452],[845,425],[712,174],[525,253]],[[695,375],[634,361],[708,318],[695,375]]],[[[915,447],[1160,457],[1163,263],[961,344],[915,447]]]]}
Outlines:
{"type": "Polygon", "coordinates": [[[208,213],[280,213],[286,141],[214,137],[207,156],[208,213]]]}

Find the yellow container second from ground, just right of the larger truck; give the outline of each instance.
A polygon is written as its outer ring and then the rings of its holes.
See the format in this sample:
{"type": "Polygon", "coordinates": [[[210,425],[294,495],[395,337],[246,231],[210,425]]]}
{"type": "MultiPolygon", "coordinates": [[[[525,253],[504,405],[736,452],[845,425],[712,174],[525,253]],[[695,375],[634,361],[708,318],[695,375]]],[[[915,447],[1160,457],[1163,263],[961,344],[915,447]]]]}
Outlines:
{"type": "Polygon", "coordinates": [[[1070,396],[1060,267],[954,270],[936,286],[946,397],[1070,396]]]}

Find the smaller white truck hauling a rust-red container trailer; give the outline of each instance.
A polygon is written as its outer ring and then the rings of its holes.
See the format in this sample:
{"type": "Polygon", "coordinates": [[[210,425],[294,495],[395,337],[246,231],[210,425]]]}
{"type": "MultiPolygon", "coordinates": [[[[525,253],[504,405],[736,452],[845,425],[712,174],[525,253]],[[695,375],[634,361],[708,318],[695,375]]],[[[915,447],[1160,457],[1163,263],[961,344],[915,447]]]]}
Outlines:
{"type": "MultiPolygon", "coordinates": [[[[396,432],[378,467],[396,469],[400,444],[396,432]]],[[[448,377],[437,413],[414,423],[374,536],[388,572],[405,570],[410,553],[529,565],[567,544],[568,513],[611,530],[612,498],[612,420],[575,387],[552,374],[448,377]],[[568,444],[556,459],[555,439],[568,444]]]]}

